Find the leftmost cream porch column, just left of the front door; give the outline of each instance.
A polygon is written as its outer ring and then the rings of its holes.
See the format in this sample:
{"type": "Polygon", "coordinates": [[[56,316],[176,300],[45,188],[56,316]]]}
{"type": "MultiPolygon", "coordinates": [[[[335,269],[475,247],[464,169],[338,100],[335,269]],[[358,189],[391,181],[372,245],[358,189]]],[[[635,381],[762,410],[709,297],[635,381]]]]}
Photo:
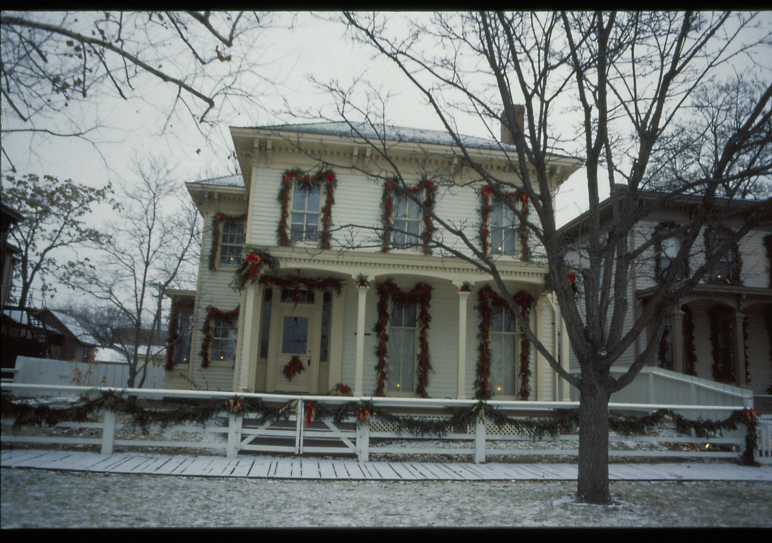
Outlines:
{"type": "Polygon", "coordinates": [[[257,349],[260,335],[262,285],[248,282],[242,295],[241,326],[236,338],[238,352],[233,371],[235,392],[254,392],[257,373],[257,349]]]}

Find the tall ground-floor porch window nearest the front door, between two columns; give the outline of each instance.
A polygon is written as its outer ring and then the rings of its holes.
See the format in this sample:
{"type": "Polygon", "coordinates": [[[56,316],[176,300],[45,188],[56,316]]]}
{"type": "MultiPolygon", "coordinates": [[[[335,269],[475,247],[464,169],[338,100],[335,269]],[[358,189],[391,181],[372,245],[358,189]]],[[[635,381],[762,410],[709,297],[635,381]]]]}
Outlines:
{"type": "Polygon", "coordinates": [[[417,306],[391,302],[388,328],[388,387],[390,392],[415,391],[417,306]]]}

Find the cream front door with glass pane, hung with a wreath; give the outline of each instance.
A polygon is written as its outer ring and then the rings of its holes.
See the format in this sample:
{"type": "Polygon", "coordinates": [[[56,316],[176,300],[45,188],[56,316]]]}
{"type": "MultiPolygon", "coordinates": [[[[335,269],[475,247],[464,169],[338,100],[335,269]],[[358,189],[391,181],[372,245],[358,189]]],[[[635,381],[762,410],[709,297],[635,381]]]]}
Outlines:
{"type": "MultiPolygon", "coordinates": [[[[266,389],[269,392],[317,393],[319,376],[320,310],[313,293],[288,295],[276,308],[276,334],[271,334],[266,389]],[[299,360],[302,371],[286,375],[285,368],[299,360]]],[[[272,326],[273,328],[273,326],[272,326]]]]}

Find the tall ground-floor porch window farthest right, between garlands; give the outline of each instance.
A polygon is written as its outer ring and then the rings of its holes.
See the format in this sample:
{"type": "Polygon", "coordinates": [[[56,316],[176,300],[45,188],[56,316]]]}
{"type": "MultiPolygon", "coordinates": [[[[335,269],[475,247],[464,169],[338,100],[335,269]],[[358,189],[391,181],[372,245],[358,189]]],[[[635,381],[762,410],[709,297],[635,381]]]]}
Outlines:
{"type": "Polygon", "coordinates": [[[515,315],[505,307],[494,307],[490,322],[489,390],[497,396],[516,394],[517,326],[515,315]]]}

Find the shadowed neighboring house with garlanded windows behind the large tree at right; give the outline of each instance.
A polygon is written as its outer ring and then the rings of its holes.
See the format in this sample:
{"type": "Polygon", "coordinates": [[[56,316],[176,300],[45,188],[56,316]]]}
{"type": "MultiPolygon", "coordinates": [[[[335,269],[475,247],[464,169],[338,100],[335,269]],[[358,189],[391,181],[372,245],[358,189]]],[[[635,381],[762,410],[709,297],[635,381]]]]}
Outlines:
{"type": "MultiPolygon", "coordinates": [[[[624,188],[624,187],[622,187],[624,188]]],[[[631,247],[641,245],[659,228],[686,224],[701,200],[697,196],[680,197],[667,207],[655,206],[659,193],[641,193],[639,206],[650,207],[644,219],[630,232],[631,247]]],[[[611,200],[600,204],[601,231],[610,228],[611,200]]],[[[756,204],[750,201],[729,203],[733,212],[756,204]]],[[[560,228],[559,234],[569,246],[581,240],[587,214],[582,214],[560,228]]],[[[686,265],[693,271],[705,261],[706,245],[720,243],[740,222],[709,224],[700,232],[686,265]]],[[[669,238],[652,247],[638,261],[637,271],[629,281],[628,328],[648,303],[662,271],[669,267],[679,251],[679,238],[669,238]]],[[[762,218],[757,228],[744,236],[738,245],[706,275],[694,291],[683,297],[672,309],[667,327],[659,342],[652,366],[671,369],[703,379],[750,389],[757,409],[769,403],[772,394],[772,218],[762,218]]],[[[577,260],[577,268],[588,262],[577,260]]],[[[652,323],[653,324],[653,323],[652,323]]],[[[629,366],[642,352],[654,333],[651,325],[618,359],[619,366],[629,366]]],[[[572,351],[571,369],[578,363],[572,351]]],[[[764,407],[768,410],[768,407],[764,407]]]]}

